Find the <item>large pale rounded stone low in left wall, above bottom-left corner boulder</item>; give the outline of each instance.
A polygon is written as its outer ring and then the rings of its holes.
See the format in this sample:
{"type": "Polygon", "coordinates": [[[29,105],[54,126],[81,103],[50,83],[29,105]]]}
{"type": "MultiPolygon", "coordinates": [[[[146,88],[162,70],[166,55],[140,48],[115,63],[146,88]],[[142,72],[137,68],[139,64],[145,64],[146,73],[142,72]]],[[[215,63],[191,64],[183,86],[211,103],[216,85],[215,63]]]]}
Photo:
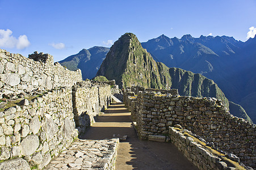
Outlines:
{"type": "Polygon", "coordinates": [[[39,138],[37,135],[28,135],[20,142],[20,147],[22,148],[22,155],[31,155],[39,147],[39,138]]]}

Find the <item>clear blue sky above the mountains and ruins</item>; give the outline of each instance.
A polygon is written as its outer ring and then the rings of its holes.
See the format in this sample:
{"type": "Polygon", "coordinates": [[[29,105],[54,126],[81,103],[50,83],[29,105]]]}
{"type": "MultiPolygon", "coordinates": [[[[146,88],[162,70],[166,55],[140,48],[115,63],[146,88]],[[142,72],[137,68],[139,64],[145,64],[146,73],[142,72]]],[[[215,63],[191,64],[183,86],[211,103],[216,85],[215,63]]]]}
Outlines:
{"type": "Polygon", "coordinates": [[[181,38],[256,33],[255,0],[36,1],[0,0],[0,48],[34,51],[60,61],[95,45],[111,46],[125,32],[141,42],[162,34],[181,38]]]}

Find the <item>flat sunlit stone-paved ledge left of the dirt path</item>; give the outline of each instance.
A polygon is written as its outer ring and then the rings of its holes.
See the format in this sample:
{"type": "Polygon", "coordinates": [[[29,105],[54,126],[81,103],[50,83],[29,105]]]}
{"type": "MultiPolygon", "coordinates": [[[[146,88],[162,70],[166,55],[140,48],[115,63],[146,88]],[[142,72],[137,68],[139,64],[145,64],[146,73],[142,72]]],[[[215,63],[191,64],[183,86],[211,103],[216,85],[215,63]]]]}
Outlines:
{"type": "Polygon", "coordinates": [[[45,169],[107,169],[114,165],[118,138],[110,140],[81,140],[53,159],[45,169]]]}

